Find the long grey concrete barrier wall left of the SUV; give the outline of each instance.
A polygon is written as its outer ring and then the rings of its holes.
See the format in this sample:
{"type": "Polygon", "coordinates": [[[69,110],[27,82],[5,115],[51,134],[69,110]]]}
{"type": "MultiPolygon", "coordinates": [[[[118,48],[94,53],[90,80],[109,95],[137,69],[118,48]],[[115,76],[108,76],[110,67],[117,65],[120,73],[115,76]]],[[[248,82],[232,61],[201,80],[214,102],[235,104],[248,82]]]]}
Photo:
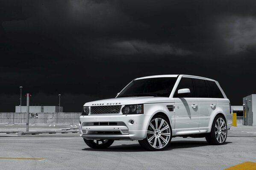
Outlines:
{"type": "MultiPolygon", "coordinates": [[[[67,113],[37,113],[32,116],[30,113],[29,124],[70,124],[77,125],[79,123],[80,112],[67,113]]],[[[0,113],[0,123],[26,123],[26,113],[0,113]]]]}

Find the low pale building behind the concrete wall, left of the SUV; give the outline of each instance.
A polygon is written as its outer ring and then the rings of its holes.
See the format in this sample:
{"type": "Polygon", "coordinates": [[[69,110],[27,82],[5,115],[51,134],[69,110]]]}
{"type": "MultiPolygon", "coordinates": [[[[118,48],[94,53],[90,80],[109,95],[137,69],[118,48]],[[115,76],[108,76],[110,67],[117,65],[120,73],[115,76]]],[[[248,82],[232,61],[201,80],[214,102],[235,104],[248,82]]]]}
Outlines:
{"type": "MultiPolygon", "coordinates": [[[[59,106],[29,106],[29,113],[58,113],[59,106]]],[[[63,107],[60,107],[63,112],[63,107]]],[[[15,106],[15,113],[26,113],[26,106],[15,106]]]]}

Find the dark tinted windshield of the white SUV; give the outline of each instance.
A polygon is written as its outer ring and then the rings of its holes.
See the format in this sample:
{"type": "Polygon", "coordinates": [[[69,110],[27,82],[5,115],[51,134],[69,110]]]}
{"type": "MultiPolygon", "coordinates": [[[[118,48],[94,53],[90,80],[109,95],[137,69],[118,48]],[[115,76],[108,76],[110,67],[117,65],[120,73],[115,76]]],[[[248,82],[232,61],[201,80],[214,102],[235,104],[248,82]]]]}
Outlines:
{"type": "Polygon", "coordinates": [[[117,97],[160,96],[169,97],[177,77],[160,77],[132,81],[117,97]]]}

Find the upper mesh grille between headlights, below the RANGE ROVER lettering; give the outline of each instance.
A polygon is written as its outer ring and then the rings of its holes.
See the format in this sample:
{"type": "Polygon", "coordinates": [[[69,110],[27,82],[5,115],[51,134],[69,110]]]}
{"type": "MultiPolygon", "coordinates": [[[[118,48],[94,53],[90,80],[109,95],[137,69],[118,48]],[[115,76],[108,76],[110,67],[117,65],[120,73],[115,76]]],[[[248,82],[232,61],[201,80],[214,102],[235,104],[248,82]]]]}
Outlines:
{"type": "Polygon", "coordinates": [[[122,105],[91,106],[91,114],[119,113],[122,105]]]}

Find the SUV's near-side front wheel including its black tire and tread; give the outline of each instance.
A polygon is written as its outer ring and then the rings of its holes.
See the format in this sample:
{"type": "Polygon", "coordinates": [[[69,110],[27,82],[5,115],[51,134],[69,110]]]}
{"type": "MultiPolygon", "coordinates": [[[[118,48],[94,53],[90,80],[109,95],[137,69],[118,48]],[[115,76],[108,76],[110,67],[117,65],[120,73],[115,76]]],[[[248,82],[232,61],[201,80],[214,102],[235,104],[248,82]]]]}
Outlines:
{"type": "Polygon", "coordinates": [[[141,147],[146,150],[165,150],[172,137],[171,125],[168,119],[164,116],[154,116],[147,128],[147,137],[143,140],[139,140],[141,147]]]}

